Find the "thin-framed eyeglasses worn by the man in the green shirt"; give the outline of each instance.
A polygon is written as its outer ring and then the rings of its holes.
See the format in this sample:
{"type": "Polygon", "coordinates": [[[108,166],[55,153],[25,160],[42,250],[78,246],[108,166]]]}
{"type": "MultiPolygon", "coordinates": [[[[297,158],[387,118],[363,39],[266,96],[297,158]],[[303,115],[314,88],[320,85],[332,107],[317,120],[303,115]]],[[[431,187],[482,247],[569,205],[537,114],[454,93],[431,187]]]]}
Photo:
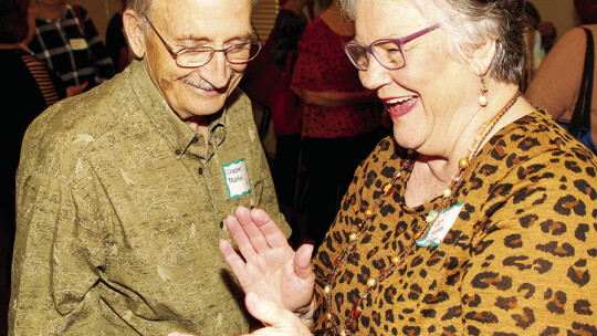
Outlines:
{"type": "Polygon", "coordinates": [[[175,59],[176,64],[182,67],[203,66],[211,61],[216,52],[223,52],[228,62],[232,64],[244,64],[256,57],[261,48],[263,46],[263,42],[261,41],[259,33],[253,27],[256,34],[256,42],[239,43],[226,49],[213,49],[211,46],[182,48],[181,50],[175,52],[172,48],[168,45],[166,41],[164,41],[164,38],[161,38],[154,24],[151,24],[149,18],[145,17],[145,20],[147,20],[151,29],[156,32],[156,35],[159,38],[161,43],[164,43],[164,46],[166,46],[166,50],[168,50],[172,59],[175,59]]]}

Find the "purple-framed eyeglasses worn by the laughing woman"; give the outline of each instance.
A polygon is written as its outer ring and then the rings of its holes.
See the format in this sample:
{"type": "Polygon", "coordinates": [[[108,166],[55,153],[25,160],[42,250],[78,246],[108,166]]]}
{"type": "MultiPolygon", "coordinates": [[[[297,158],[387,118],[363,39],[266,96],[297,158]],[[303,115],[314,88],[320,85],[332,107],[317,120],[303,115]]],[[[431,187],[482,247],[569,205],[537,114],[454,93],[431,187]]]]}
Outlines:
{"type": "Polygon", "coordinates": [[[344,44],[344,52],[348,55],[348,59],[356,69],[360,71],[367,71],[369,69],[369,54],[387,70],[398,70],[406,66],[405,43],[415,40],[419,36],[427,34],[428,32],[439,28],[439,24],[431,25],[413,34],[410,34],[401,39],[384,39],[377,40],[369,44],[369,46],[363,45],[358,42],[352,41],[344,44]]]}

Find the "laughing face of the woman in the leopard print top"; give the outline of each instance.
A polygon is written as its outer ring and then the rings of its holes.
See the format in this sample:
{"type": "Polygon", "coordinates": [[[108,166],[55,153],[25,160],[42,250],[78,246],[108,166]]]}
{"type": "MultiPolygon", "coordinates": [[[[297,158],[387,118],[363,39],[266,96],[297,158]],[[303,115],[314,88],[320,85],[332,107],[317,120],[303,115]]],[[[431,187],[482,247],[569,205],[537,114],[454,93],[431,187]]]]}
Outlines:
{"type": "MultiPolygon", "coordinates": [[[[408,0],[357,0],[355,40],[369,45],[436,23],[425,20],[408,0]]],[[[476,102],[480,83],[468,65],[448,56],[444,39],[440,28],[407,42],[402,69],[387,70],[369,56],[368,70],[359,72],[363,85],[377,91],[389,112],[396,141],[434,156],[447,155],[470,122],[470,115],[459,112],[465,108],[463,102],[476,102]]]]}

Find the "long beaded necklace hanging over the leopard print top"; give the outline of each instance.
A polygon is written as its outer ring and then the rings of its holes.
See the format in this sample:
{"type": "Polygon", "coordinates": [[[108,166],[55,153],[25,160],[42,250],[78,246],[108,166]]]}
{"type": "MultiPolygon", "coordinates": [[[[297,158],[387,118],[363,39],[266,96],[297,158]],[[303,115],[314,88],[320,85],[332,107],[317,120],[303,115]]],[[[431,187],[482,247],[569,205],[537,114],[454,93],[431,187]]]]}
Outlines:
{"type": "MultiPolygon", "coordinates": [[[[381,187],[381,195],[374,200],[374,203],[370,208],[365,210],[365,221],[359,222],[357,224],[356,232],[350,233],[348,237],[348,244],[344,245],[342,249],[341,254],[336,260],[334,261],[334,270],[332,271],[332,274],[328,277],[327,284],[324,287],[325,293],[325,308],[327,311],[326,313],[326,319],[328,323],[328,328],[323,330],[323,333],[320,333],[318,335],[327,335],[331,332],[334,332],[336,335],[345,336],[347,335],[347,329],[352,329],[356,327],[356,323],[359,319],[360,315],[363,314],[363,301],[369,296],[369,294],[377,287],[377,285],[386,280],[388,276],[390,276],[396,269],[398,269],[404,262],[407,255],[409,255],[412,251],[415,251],[417,245],[417,240],[421,237],[425,237],[427,232],[433,227],[433,224],[438,221],[438,218],[440,214],[453,202],[453,195],[455,193],[457,189],[460,187],[462,182],[462,178],[464,174],[467,172],[467,169],[470,167],[471,161],[476,157],[479,154],[479,150],[481,149],[481,144],[483,144],[484,139],[488,137],[488,135],[491,133],[493,127],[495,127],[495,124],[504,116],[504,114],[516,103],[519,97],[522,95],[522,93],[519,91],[516,94],[510,99],[510,102],[498,113],[483,128],[479,134],[475,136],[474,141],[472,146],[469,148],[469,153],[465,157],[461,158],[458,162],[458,172],[450,181],[450,185],[447,189],[443,190],[443,195],[440,198],[440,200],[433,204],[433,210],[429,212],[429,214],[426,218],[426,223],[422,225],[422,228],[417,228],[415,231],[416,233],[412,235],[412,239],[408,243],[408,245],[405,248],[405,250],[397,255],[391,256],[390,259],[390,265],[379,272],[379,274],[375,277],[370,277],[367,281],[367,287],[364,292],[359,293],[358,300],[353,304],[350,308],[350,314],[347,316],[347,319],[344,322],[344,324],[339,324],[335,316],[332,314],[332,290],[334,287],[334,284],[336,282],[336,277],[339,273],[341,266],[346,261],[346,258],[350,255],[355,250],[357,242],[362,234],[367,230],[367,228],[370,225],[373,218],[376,214],[376,209],[379,208],[381,204],[381,201],[387,196],[390,196],[394,191],[394,186],[398,181],[398,179],[402,176],[402,171],[406,171],[407,169],[411,170],[415,162],[416,154],[413,150],[409,150],[408,156],[405,160],[402,160],[400,168],[398,171],[394,175],[391,180],[384,185],[381,187]]],[[[339,318],[338,318],[339,321],[339,318]]]]}

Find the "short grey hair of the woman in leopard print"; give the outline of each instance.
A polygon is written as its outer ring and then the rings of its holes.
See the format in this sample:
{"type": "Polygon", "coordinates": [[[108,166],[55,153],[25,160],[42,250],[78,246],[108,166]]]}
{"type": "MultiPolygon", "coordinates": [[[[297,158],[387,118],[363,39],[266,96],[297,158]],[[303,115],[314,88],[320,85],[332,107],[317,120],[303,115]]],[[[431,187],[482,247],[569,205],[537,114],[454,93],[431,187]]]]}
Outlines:
{"type": "MultiPolygon", "coordinates": [[[[486,39],[496,41],[489,75],[517,84],[526,62],[524,0],[409,0],[430,24],[446,31],[447,52],[464,61],[486,39]]],[[[339,0],[343,11],[355,19],[357,0],[339,0]]]]}

